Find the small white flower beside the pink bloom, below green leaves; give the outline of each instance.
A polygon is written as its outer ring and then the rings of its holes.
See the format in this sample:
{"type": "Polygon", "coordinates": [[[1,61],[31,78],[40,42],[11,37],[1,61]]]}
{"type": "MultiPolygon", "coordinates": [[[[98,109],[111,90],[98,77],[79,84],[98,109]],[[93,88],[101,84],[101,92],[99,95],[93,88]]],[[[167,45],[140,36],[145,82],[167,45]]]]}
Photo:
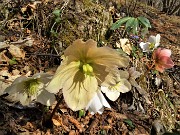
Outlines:
{"type": "Polygon", "coordinates": [[[150,52],[159,46],[160,38],[160,34],[157,34],[156,36],[150,36],[147,43],[141,42],[139,45],[143,52],[150,52]]]}

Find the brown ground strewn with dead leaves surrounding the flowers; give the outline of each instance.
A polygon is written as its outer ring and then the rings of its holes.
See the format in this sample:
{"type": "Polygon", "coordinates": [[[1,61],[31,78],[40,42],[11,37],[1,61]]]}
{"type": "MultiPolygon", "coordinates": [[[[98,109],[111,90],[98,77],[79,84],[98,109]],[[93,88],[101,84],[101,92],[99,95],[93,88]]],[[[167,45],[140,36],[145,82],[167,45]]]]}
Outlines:
{"type": "MultiPolygon", "coordinates": [[[[0,63],[0,70],[8,71],[3,77],[8,80],[9,74],[54,72],[60,65],[63,50],[75,39],[91,38],[99,46],[113,46],[119,40],[118,32],[114,31],[108,39],[105,35],[110,22],[125,12],[123,4],[107,0],[99,3],[88,0],[1,1],[0,53],[8,59],[0,63]],[[61,9],[59,16],[52,13],[55,9],[61,9]],[[25,52],[24,57],[12,60],[9,44],[20,47],[25,52]]],[[[144,80],[151,104],[132,90],[121,94],[116,102],[108,101],[112,108],[106,108],[102,115],[86,112],[80,117],[79,112],[70,110],[60,99],[52,121],[47,121],[56,103],[50,108],[39,103],[24,107],[10,101],[7,95],[1,95],[0,135],[155,135],[158,129],[159,134],[170,131],[180,134],[180,17],[166,15],[145,4],[138,4],[131,12],[149,19],[152,28],[147,38],[160,34],[160,46],[172,50],[175,63],[172,69],[158,75],[159,86],[154,84],[154,75],[148,74],[144,80]]],[[[138,67],[142,66],[140,61],[136,62],[138,67]]]]}

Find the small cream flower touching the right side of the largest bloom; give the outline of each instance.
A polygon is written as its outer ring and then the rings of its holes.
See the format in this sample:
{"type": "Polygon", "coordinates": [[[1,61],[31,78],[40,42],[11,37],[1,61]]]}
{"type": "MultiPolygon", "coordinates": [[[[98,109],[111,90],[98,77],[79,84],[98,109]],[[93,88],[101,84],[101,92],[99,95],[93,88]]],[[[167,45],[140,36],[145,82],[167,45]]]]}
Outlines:
{"type": "Polygon", "coordinates": [[[111,72],[102,83],[101,91],[111,100],[115,101],[120,96],[120,92],[126,93],[131,90],[128,82],[129,73],[123,70],[111,72]]]}

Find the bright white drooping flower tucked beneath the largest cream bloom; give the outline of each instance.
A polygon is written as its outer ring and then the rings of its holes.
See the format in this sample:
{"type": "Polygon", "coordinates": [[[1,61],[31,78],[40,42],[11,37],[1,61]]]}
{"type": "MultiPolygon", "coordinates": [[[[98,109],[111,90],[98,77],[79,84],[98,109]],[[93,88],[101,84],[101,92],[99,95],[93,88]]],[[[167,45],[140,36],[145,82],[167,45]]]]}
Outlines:
{"type": "Polygon", "coordinates": [[[104,106],[107,108],[111,108],[101,91],[97,91],[94,97],[86,106],[86,110],[88,110],[92,115],[94,115],[95,113],[102,114],[104,111],[104,106]]]}

